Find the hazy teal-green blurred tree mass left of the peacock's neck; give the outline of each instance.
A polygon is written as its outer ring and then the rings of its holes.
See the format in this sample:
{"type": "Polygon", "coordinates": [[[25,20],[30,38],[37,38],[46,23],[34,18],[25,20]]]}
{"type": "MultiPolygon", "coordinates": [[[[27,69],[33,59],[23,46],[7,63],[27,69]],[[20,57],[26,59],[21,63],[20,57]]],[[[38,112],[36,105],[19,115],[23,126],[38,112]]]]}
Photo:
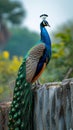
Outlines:
{"type": "Polygon", "coordinates": [[[10,57],[24,56],[39,40],[38,33],[29,31],[27,28],[10,28],[10,32],[12,36],[4,48],[10,52],[10,57]]]}

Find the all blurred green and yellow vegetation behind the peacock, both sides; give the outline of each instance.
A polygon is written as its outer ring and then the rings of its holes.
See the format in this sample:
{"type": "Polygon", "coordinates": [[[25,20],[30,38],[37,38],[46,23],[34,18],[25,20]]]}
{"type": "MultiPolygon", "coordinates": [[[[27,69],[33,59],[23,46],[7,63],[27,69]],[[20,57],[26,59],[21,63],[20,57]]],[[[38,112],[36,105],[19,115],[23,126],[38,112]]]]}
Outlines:
{"type": "MultiPolygon", "coordinates": [[[[20,2],[0,1],[0,102],[9,100],[24,55],[40,38],[18,25],[26,11],[20,2]],[[8,5],[7,5],[8,4],[8,5]],[[8,7],[8,8],[7,8],[8,7]],[[10,24],[8,24],[10,23],[10,24]],[[11,25],[13,24],[13,25],[11,25]],[[10,25],[10,26],[7,26],[10,25]]],[[[40,77],[42,83],[73,76],[73,22],[61,25],[52,37],[52,58],[40,77]]]]}

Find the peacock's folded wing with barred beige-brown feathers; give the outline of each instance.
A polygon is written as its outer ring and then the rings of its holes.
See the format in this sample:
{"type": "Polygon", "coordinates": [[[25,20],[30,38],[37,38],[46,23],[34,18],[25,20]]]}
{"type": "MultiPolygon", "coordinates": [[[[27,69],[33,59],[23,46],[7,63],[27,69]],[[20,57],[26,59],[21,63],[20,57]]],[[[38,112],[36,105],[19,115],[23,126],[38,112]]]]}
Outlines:
{"type": "Polygon", "coordinates": [[[28,53],[26,59],[26,80],[31,82],[39,63],[40,58],[43,56],[45,50],[45,44],[41,43],[34,46],[28,53]]]}

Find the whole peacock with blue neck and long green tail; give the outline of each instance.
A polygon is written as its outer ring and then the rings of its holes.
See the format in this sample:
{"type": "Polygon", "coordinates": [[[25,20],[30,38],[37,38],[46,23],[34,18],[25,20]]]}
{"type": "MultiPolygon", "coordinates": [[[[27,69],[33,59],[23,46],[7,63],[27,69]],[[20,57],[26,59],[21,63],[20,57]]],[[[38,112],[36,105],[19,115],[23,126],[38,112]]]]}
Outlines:
{"type": "Polygon", "coordinates": [[[23,58],[15,82],[13,101],[9,111],[9,130],[33,130],[33,91],[35,83],[51,58],[51,40],[46,26],[47,14],[42,14],[40,41],[23,58]]]}

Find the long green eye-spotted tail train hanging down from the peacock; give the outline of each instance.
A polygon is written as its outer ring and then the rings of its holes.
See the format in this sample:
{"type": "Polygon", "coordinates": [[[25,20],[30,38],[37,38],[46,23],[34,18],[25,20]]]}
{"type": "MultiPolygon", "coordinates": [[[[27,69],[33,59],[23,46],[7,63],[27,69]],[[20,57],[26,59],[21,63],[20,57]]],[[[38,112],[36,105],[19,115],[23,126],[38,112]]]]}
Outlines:
{"type": "Polygon", "coordinates": [[[9,112],[9,130],[32,130],[33,92],[26,81],[26,60],[20,66],[9,112]]]}

